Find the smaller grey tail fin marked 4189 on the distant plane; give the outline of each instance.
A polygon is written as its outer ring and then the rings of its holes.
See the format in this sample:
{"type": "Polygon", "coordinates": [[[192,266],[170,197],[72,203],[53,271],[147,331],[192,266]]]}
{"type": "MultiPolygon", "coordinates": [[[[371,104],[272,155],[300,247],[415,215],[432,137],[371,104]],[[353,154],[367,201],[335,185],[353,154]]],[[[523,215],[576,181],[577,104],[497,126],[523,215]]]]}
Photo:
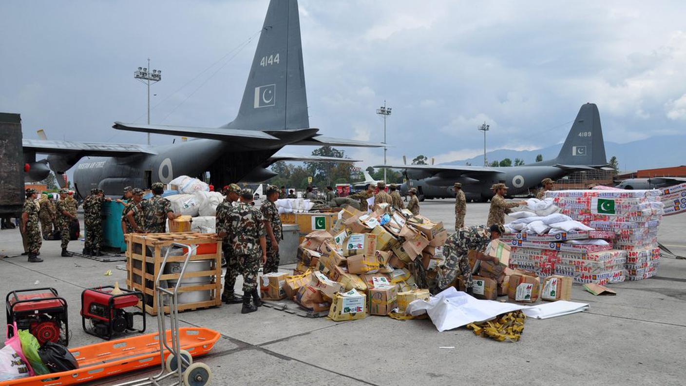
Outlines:
{"type": "Polygon", "coordinates": [[[594,103],[581,106],[554,162],[566,165],[606,165],[600,113],[594,103]]]}

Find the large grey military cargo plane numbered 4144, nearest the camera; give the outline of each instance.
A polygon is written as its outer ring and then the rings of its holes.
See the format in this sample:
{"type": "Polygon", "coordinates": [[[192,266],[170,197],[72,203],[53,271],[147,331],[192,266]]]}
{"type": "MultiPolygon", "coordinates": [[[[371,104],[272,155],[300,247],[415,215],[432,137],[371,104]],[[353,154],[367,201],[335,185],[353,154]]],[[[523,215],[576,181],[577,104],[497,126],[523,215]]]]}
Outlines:
{"type": "MultiPolygon", "coordinates": [[[[139,125],[115,122],[117,130],[193,137],[166,146],[102,144],[24,139],[27,181],[40,181],[50,170],[64,174],[82,157],[73,174],[81,197],[92,188],[118,195],[126,185],[149,188],[180,175],[209,172],[211,182],[261,182],[276,173],[267,170],[280,161],[348,161],[317,156],[274,156],[286,145],[380,147],[352,139],[318,134],[309,126],[305,71],[300,42],[297,0],[271,0],[243,99],[235,120],[218,128],[139,125]],[[36,153],[49,155],[36,161],[36,153]],[[94,156],[94,157],[93,157],[94,156]],[[49,165],[49,168],[48,168],[49,165]]],[[[60,185],[63,178],[57,179],[60,185]]]]}

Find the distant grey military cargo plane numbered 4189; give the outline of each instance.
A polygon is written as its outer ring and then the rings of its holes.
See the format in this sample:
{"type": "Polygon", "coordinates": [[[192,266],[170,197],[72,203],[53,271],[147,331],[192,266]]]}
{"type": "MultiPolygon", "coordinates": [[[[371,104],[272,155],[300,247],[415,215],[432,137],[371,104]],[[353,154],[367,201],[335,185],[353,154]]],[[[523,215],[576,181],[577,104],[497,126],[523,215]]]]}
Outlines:
{"type": "MultiPolygon", "coordinates": [[[[383,168],[383,165],[374,166],[383,168]]],[[[453,183],[462,183],[462,191],[469,201],[486,201],[493,197],[490,186],[505,183],[508,195],[528,194],[541,180],[553,180],[580,170],[607,170],[605,144],[602,139],[598,106],[587,103],[581,106],[571,125],[567,139],[555,159],[523,166],[489,167],[456,165],[395,165],[403,170],[407,181],[401,185],[405,194],[416,188],[423,198],[450,198],[455,196],[453,183]]]]}

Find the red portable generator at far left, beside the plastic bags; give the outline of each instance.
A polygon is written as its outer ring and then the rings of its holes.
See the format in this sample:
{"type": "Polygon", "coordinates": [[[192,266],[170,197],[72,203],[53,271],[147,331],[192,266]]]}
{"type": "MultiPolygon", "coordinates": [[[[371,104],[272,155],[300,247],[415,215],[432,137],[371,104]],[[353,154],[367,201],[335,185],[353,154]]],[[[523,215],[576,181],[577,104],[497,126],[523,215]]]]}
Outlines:
{"type": "Polygon", "coordinates": [[[5,307],[7,323],[29,330],[40,345],[48,341],[69,345],[67,300],[55,288],[12,291],[5,297],[5,307]]]}

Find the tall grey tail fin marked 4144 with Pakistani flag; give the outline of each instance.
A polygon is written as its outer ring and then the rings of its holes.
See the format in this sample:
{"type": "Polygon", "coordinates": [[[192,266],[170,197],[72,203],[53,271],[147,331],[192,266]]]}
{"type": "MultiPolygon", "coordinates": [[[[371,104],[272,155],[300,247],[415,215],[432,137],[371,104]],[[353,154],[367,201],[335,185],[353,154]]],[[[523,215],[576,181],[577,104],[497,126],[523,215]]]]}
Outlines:
{"type": "Polygon", "coordinates": [[[297,0],[270,1],[238,115],[222,127],[309,127],[297,0]]]}

